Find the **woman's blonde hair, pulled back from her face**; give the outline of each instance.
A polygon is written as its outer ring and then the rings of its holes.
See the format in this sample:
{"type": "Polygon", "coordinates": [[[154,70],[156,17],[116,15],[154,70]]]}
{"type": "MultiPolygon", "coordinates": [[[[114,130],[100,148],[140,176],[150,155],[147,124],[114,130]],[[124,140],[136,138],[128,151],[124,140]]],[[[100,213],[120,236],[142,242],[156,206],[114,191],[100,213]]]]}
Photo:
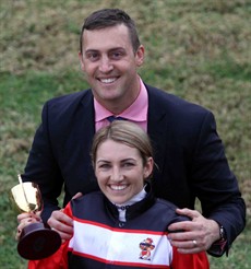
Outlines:
{"type": "Polygon", "coordinates": [[[106,140],[113,140],[139,150],[143,165],[146,164],[148,157],[153,157],[150,138],[141,127],[128,120],[115,120],[109,126],[98,130],[94,136],[91,151],[94,167],[98,147],[106,140]]]}

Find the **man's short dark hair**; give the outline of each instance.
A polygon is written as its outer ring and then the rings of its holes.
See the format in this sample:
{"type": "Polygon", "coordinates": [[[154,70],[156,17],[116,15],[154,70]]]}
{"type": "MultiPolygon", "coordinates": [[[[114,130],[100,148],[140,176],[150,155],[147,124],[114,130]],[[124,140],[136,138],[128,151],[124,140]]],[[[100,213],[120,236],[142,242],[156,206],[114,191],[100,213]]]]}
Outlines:
{"type": "Polygon", "coordinates": [[[136,27],[134,21],[120,9],[101,9],[93,12],[88,17],[86,17],[80,36],[80,51],[82,54],[83,46],[83,33],[84,30],[100,30],[106,27],[116,26],[119,24],[123,24],[128,27],[133,51],[136,52],[140,47],[140,39],[136,33],[136,27]]]}

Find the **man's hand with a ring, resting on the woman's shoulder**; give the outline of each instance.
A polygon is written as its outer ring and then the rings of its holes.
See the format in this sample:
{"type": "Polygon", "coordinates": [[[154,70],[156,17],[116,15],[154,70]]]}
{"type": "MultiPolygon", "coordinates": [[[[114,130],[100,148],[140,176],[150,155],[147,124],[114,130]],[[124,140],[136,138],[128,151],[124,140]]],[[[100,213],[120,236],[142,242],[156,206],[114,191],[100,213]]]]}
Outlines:
{"type": "Polygon", "coordinates": [[[168,234],[171,245],[176,246],[179,253],[194,254],[207,250],[215,241],[220,238],[216,221],[205,219],[196,210],[187,208],[177,209],[176,212],[192,220],[172,223],[168,226],[168,231],[184,231],[168,234]]]}

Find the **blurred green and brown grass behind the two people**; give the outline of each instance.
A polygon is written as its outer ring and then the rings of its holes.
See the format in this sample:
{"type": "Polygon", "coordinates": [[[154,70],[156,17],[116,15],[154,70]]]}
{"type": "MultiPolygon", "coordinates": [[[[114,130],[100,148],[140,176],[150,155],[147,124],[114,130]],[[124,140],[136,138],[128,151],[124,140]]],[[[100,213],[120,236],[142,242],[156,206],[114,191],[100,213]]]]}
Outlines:
{"type": "Polygon", "coordinates": [[[84,17],[100,8],[135,20],[146,59],[143,80],[212,109],[247,202],[247,227],[229,257],[211,268],[251,268],[251,1],[1,0],[0,268],[25,268],[16,254],[17,184],[44,102],[86,89],[77,60],[84,17]]]}

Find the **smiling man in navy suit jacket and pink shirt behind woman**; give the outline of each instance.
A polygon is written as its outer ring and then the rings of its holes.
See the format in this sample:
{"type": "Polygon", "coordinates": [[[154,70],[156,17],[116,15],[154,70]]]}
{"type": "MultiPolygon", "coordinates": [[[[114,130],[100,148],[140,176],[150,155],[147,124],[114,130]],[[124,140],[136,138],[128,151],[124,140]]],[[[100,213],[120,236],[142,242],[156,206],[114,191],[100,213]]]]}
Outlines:
{"type": "Polygon", "coordinates": [[[117,117],[148,132],[157,164],[155,195],[187,208],[177,212],[192,220],[168,226],[180,231],[169,235],[172,245],[184,254],[227,253],[244,227],[246,206],[212,113],[142,82],[136,70],[144,62],[144,47],[123,11],[91,14],[80,44],[81,67],[92,90],[45,104],[23,175],[40,186],[43,220],[49,219],[62,238],[71,236],[71,219],[59,211],[57,198],[63,185],[63,204],[76,192],[97,189],[89,157],[93,136],[117,117]],[[203,215],[193,210],[195,197],[203,215]]]}

